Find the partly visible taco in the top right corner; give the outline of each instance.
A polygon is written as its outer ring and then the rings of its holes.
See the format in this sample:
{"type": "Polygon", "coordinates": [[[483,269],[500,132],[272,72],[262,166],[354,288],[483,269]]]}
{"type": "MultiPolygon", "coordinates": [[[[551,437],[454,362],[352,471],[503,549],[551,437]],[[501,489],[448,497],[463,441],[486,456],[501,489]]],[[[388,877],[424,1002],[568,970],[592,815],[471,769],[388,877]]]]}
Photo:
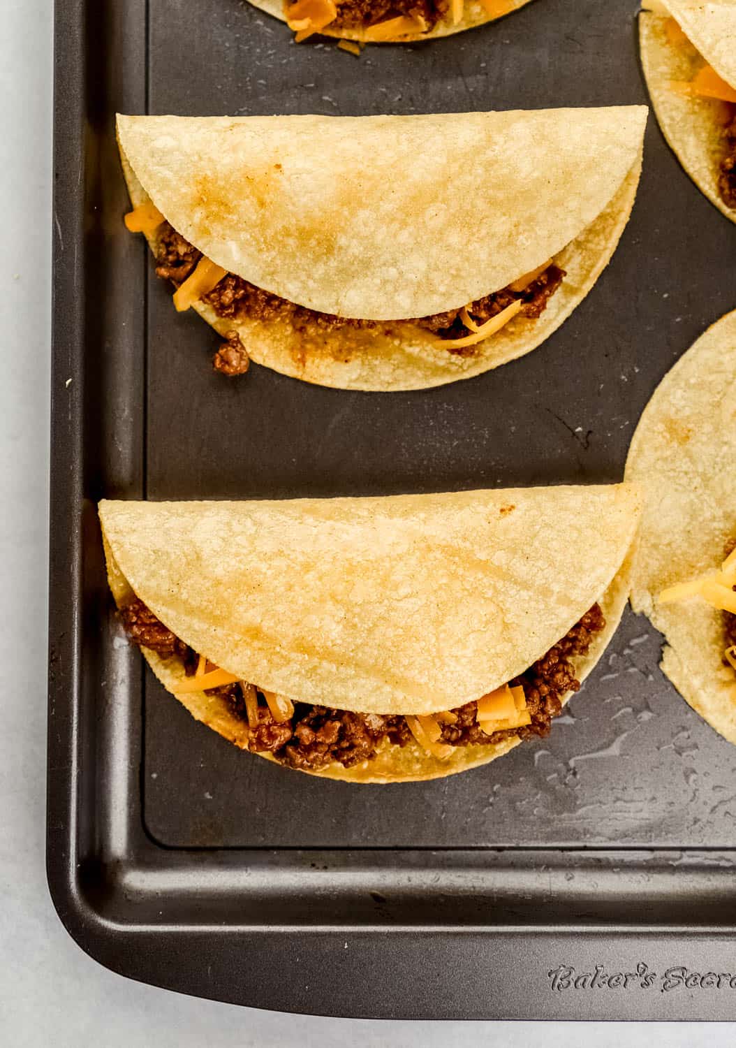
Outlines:
{"type": "Polygon", "coordinates": [[[736,0],[650,0],[642,65],[667,141],[702,193],[736,222],[736,0]]]}

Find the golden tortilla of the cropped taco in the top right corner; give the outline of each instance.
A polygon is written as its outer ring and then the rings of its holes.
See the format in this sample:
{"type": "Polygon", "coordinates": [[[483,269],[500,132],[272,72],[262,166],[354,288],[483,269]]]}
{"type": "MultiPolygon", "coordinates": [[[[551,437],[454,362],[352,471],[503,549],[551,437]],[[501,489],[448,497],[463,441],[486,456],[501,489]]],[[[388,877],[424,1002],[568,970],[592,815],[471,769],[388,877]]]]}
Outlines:
{"type": "Polygon", "coordinates": [[[673,81],[692,81],[708,62],[736,87],[736,0],[663,0],[661,6],[662,13],[643,10],[639,16],[642,66],[656,118],[695,184],[736,222],[736,210],[728,208],[718,192],[728,110],[717,100],[683,96],[670,86],[673,81]],[[672,44],[668,40],[670,17],[689,43],[672,44]]]}

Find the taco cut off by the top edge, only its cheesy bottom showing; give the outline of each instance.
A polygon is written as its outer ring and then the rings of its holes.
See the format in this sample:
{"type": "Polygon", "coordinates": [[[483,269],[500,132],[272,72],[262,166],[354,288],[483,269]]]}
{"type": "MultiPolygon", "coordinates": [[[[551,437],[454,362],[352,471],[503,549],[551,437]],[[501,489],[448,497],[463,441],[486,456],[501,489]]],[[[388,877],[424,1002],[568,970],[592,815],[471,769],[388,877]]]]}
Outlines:
{"type": "Polygon", "coordinates": [[[297,43],[315,32],[356,44],[416,43],[485,25],[529,0],[250,0],[286,22],[297,43]]]}

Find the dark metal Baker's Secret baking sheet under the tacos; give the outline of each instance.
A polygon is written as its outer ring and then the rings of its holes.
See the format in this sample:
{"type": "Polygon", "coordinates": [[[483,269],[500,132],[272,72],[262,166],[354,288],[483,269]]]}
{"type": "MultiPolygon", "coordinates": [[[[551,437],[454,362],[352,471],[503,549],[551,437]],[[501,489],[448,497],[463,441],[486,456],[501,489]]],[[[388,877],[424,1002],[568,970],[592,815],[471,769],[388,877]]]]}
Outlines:
{"type": "Polygon", "coordinates": [[[356,60],[240,0],[58,0],[48,869],[115,970],[327,1014],[736,1014],[728,980],[694,975],[736,976],[734,750],[662,677],[646,620],[627,614],[547,740],[443,782],[318,782],[240,754],[142,671],[94,512],[620,479],[656,383],[736,304],[733,225],[653,119],[620,248],[565,325],[495,372],[381,395],[211,372],[217,336],[122,228],[113,113],[646,102],[635,6],[537,0],[356,60]],[[681,967],[689,985],[665,978],[681,967]]]}

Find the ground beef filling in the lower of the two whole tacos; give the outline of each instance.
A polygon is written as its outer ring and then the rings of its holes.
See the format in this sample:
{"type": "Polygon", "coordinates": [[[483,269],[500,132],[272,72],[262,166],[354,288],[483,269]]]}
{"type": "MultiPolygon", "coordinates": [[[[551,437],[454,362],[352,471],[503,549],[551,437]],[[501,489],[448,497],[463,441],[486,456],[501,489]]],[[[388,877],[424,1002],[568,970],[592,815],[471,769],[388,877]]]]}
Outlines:
{"type": "MultiPolygon", "coordinates": [[[[184,661],[187,675],[194,673],[196,653],[168,630],[141,601],[134,598],[120,614],[131,640],[153,649],[162,658],[178,655],[184,661]]],[[[732,617],[736,623],[736,616],[732,617]]],[[[451,711],[458,719],[454,724],[442,725],[441,741],[451,746],[488,745],[509,736],[529,739],[549,735],[553,719],[562,711],[562,698],[580,687],[571,660],[587,654],[594,637],[604,626],[603,612],[594,604],[554,648],[511,681],[523,687],[531,724],[486,735],[475,720],[476,703],[466,702],[451,711]]],[[[240,684],[225,684],[207,694],[225,699],[236,716],[247,721],[240,684]]],[[[293,768],[321,768],[334,762],[349,768],[375,757],[386,738],[397,746],[405,746],[412,738],[406,720],[400,715],[355,714],[304,703],[295,705],[291,720],[280,723],[271,716],[261,693],[259,723],[250,728],[248,749],[273,754],[282,764],[293,768]]]]}

